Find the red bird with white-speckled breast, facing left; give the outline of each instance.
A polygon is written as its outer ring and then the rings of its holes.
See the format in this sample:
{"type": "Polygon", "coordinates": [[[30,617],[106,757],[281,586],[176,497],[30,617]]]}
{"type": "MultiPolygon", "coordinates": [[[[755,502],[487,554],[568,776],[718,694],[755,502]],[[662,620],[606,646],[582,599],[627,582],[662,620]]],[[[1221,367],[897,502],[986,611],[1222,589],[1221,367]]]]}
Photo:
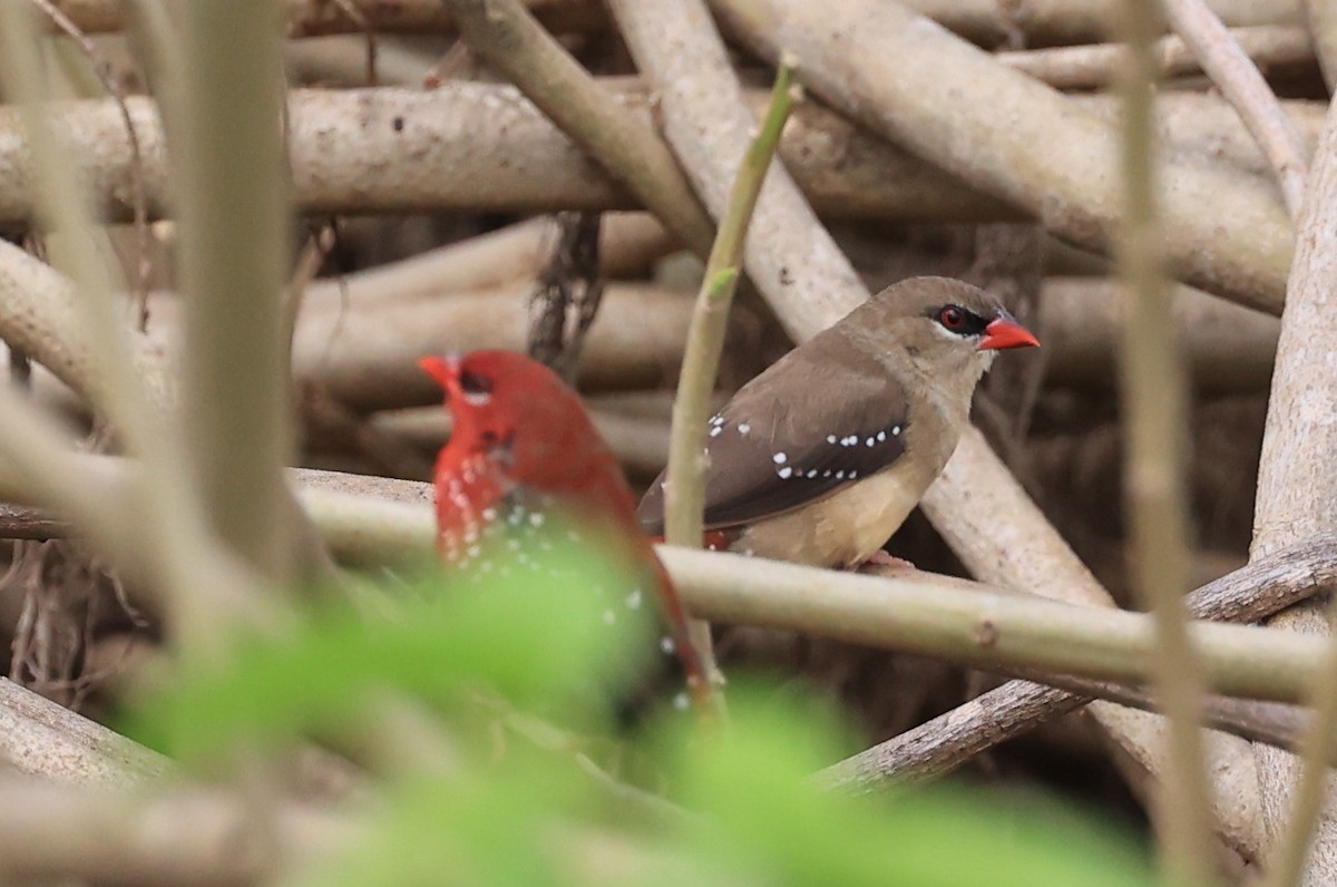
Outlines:
{"type": "MultiPolygon", "coordinates": [[[[541,527],[550,514],[576,519],[618,540],[652,590],[690,698],[710,689],[687,635],[687,621],[650,536],[636,520],[636,499],[616,458],[595,431],[580,397],[562,379],[523,355],[477,351],[424,357],[418,365],[445,389],[455,424],[436,460],[437,549],[455,565],[483,554],[493,535],[541,527]]],[[[523,551],[519,563],[529,563],[523,551]]],[[[491,563],[479,562],[481,570],[491,563]]],[[[642,591],[627,597],[639,607],[642,591]]]]}

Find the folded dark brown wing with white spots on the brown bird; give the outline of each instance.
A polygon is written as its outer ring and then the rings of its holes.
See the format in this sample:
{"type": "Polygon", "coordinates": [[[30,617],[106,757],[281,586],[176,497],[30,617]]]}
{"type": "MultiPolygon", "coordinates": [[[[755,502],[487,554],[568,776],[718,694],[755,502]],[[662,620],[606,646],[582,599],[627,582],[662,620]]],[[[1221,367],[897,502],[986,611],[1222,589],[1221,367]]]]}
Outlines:
{"type": "MultiPolygon", "coordinates": [[[[905,452],[905,392],[874,357],[814,338],[747,383],[710,420],[706,528],[828,496],[905,452]]],[[[636,516],[663,532],[663,474],[636,516]]]]}

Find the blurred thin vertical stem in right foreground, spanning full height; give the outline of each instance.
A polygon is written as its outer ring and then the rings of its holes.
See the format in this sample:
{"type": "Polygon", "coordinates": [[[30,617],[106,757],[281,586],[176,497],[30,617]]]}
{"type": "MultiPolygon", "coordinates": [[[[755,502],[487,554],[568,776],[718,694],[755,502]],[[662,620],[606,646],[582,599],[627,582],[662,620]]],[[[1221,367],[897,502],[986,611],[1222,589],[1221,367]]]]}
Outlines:
{"type": "MultiPolygon", "coordinates": [[[[1157,644],[1151,672],[1167,713],[1169,755],[1154,792],[1166,883],[1211,880],[1211,804],[1199,729],[1202,674],[1189,641],[1183,593],[1189,585],[1183,454],[1189,408],[1175,342],[1170,292],[1162,272],[1157,201],[1151,41],[1155,0],[1127,0],[1120,31],[1128,41],[1123,92],[1124,213],[1116,245],[1124,302],[1124,500],[1131,515],[1134,585],[1151,609],[1157,644]]],[[[1206,62],[1205,62],[1206,63],[1206,62]]]]}

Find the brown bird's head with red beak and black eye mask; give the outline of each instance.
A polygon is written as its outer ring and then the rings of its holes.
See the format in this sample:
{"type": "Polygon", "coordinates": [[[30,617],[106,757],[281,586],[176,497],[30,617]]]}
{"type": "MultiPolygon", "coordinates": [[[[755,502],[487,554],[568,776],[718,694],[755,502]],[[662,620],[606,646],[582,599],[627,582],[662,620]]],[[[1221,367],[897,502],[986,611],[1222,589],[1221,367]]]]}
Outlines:
{"type": "Polygon", "coordinates": [[[947,277],[901,281],[874,296],[865,308],[877,317],[861,326],[890,332],[910,363],[931,377],[963,375],[973,385],[1000,349],[1040,344],[997,298],[947,277]]]}

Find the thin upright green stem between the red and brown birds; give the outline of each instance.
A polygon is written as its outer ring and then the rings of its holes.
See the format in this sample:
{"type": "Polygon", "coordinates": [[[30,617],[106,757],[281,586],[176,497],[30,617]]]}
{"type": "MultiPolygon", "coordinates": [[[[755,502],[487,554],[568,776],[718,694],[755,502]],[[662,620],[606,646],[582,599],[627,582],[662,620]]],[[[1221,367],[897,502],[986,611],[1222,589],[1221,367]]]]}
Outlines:
{"type": "MultiPolygon", "coordinates": [[[[673,405],[673,432],[668,441],[668,472],[664,480],[664,540],[670,545],[701,547],[703,532],[706,482],[706,419],[710,393],[719,375],[719,355],[729,330],[729,306],[738,284],[738,265],[751,222],[757,195],[770,169],[779,134],[789,119],[797,95],[790,88],[793,66],[781,59],[770,107],[761,130],[753,139],[738,175],[729,205],[719,219],[719,231],[710,249],[706,274],[697,294],[687,345],[682,357],[682,376],[673,405]]],[[[706,674],[713,684],[723,684],[710,642],[710,625],[701,619],[689,622],[691,639],[701,652],[706,674]]]]}

